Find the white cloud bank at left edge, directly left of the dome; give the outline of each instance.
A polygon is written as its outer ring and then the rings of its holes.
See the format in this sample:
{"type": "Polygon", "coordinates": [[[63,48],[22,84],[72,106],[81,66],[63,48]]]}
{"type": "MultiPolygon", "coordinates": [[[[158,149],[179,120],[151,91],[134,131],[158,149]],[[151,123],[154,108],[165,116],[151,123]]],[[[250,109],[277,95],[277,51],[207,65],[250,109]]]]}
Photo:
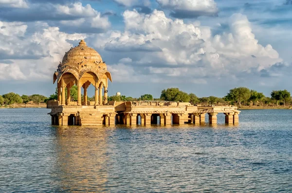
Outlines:
{"type": "Polygon", "coordinates": [[[24,23],[0,21],[0,25],[2,80],[50,80],[65,52],[73,46],[68,41],[85,38],[46,24],[33,34],[27,33],[28,26],[24,23]]]}

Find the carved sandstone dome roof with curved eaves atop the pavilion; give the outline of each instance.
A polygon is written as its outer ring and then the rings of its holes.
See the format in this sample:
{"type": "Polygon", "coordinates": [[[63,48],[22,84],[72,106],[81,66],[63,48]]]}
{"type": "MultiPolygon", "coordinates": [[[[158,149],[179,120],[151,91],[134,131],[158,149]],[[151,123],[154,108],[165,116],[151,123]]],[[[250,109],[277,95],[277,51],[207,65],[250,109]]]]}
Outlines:
{"type": "Polygon", "coordinates": [[[110,72],[100,54],[82,39],[78,46],[65,53],[54,73],[54,83],[56,80],[59,82],[64,73],[72,73],[79,80],[86,72],[93,72],[99,79],[106,75],[111,81],[110,72]]]}

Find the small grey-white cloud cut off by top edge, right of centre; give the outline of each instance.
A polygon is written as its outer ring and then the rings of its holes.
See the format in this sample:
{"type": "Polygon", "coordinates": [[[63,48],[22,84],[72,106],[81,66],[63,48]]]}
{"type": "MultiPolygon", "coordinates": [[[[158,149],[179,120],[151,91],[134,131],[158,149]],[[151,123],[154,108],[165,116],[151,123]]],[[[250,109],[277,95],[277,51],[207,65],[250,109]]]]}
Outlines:
{"type": "Polygon", "coordinates": [[[156,0],[162,8],[171,10],[175,18],[197,18],[217,16],[218,7],[214,0],[156,0]]]}

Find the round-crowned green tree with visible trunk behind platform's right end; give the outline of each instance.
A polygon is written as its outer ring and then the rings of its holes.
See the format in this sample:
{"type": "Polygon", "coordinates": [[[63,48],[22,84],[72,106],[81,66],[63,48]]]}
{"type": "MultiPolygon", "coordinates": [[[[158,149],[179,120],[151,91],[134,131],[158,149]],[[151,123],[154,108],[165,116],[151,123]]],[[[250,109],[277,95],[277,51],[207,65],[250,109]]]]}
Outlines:
{"type": "Polygon", "coordinates": [[[241,102],[247,101],[251,97],[251,91],[245,87],[238,87],[229,90],[226,96],[228,99],[235,101],[241,107],[241,102]]]}

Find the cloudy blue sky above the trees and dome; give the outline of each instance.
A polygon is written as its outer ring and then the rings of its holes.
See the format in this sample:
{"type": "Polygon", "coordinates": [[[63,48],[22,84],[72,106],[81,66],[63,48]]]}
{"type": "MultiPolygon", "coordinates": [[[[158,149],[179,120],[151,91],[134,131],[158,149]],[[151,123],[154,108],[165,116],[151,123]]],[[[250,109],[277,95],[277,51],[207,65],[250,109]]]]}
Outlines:
{"type": "Polygon", "coordinates": [[[0,0],[0,94],[53,93],[82,38],[112,73],[110,95],[292,91],[291,17],[292,0],[0,0]]]}

